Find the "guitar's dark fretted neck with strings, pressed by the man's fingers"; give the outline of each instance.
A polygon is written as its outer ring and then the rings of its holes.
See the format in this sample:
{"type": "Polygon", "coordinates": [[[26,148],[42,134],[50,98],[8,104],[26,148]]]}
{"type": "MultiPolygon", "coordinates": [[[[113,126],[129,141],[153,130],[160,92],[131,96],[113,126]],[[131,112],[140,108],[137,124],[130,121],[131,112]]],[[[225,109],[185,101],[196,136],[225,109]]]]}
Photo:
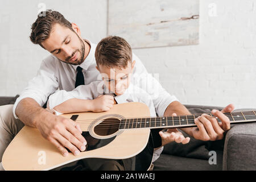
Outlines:
{"type": "MultiPolygon", "coordinates": [[[[231,124],[245,123],[245,122],[256,122],[256,111],[243,111],[235,113],[224,113],[229,118],[231,124]]],[[[196,126],[195,118],[201,114],[191,115],[178,115],[174,117],[143,117],[143,118],[125,118],[122,119],[119,125],[119,130],[125,129],[159,129],[159,128],[181,128],[181,127],[193,127],[196,126]]],[[[212,114],[208,114],[215,117],[212,114]]],[[[217,118],[218,122],[221,122],[217,118]]]]}

